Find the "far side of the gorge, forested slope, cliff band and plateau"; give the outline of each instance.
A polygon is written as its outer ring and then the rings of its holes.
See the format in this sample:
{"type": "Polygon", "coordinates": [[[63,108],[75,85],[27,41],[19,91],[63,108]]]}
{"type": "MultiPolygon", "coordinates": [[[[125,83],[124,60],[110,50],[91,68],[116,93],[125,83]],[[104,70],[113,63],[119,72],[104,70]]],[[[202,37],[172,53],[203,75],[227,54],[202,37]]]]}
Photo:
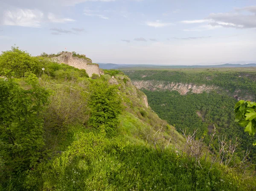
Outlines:
{"type": "MultiPolygon", "coordinates": [[[[218,135],[233,141],[241,138],[239,156],[248,148],[252,162],[256,162],[253,137],[244,134],[244,129],[235,123],[233,109],[236,98],[255,100],[255,68],[125,69],[125,74],[148,96],[151,108],[175,125],[177,131],[197,130],[196,136],[204,136],[208,143],[215,126],[218,135]]],[[[218,144],[217,139],[215,141],[218,144]]]]}

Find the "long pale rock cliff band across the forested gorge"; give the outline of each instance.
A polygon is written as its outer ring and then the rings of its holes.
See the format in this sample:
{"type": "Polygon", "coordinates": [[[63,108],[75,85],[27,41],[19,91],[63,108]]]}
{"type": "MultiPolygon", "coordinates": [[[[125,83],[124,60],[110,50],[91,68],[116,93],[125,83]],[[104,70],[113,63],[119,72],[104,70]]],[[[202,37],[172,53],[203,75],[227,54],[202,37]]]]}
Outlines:
{"type": "Polygon", "coordinates": [[[178,91],[181,95],[186,95],[189,91],[195,94],[201,94],[204,91],[209,92],[212,90],[218,89],[216,86],[206,86],[206,85],[194,85],[187,83],[168,83],[165,81],[132,81],[133,85],[138,89],[146,89],[150,91],[159,91],[159,90],[170,90],[170,91],[178,91]]]}

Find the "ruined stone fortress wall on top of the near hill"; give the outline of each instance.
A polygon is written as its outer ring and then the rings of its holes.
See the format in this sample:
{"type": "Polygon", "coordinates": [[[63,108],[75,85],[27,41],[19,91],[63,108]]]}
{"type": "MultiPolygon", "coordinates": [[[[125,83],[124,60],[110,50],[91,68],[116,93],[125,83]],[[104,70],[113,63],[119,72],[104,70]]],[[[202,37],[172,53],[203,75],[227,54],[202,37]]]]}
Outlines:
{"type": "Polygon", "coordinates": [[[98,64],[93,64],[92,60],[89,58],[78,58],[73,57],[72,52],[63,52],[58,57],[52,57],[52,60],[57,63],[64,63],[75,68],[85,69],[89,77],[92,77],[93,74],[100,76],[101,71],[98,64]]]}

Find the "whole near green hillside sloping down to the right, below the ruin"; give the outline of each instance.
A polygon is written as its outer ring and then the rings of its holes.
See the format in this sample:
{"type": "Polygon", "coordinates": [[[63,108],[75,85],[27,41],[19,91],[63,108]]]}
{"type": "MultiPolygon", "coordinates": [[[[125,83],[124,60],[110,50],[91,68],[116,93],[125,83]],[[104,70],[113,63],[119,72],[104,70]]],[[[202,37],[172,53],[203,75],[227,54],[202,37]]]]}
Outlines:
{"type": "Polygon", "coordinates": [[[12,47],[0,72],[0,190],[255,189],[247,158],[179,134],[121,71],[88,77],[12,47]]]}

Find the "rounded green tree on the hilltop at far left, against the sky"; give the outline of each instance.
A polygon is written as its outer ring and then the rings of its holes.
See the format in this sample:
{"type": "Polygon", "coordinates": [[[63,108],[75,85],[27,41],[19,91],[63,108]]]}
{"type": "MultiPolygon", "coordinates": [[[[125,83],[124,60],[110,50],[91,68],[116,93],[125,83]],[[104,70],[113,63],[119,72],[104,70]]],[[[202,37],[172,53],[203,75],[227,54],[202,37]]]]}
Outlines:
{"type": "Polygon", "coordinates": [[[36,57],[31,57],[26,51],[12,46],[10,51],[3,51],[0,55],[0,74],[7,77],[24,77],[26,72],[39,74],[42,64],[36,57]]]}

